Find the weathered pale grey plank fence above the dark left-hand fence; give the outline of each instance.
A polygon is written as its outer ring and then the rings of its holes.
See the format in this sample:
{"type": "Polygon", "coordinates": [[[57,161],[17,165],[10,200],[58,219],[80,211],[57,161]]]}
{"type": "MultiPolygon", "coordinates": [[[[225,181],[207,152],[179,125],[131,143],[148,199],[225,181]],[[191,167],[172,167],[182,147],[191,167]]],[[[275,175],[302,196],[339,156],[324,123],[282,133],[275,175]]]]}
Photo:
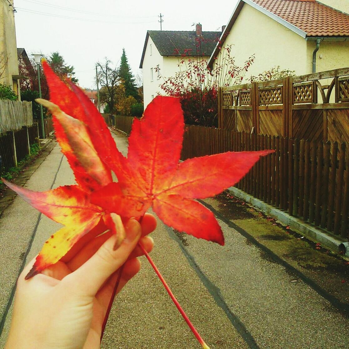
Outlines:
{"type": "Polygon", "coordinates": [[[33,125],[31,102],[0,100],[0,133],[33,125]]]}

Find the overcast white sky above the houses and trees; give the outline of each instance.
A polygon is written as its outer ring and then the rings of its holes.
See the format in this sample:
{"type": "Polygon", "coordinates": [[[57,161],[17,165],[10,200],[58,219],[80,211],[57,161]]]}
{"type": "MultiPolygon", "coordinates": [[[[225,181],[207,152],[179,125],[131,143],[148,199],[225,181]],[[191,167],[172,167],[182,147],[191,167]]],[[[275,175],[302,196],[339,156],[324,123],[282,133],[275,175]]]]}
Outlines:
{"type": "Polygon", "coordinates": [[[194,30],[200,22],[203,31],[215,31],[227,24],[236,2],[222,10],[208,0],[15,0],[17,47],[28,55],[58,51],[74,66],[80,85],[94,88],[96,62],[107,57],[117,64],[122,47],[133,73],[141,72],[146,32],[160,30],[160,13],[162,30],[194,30]]]}

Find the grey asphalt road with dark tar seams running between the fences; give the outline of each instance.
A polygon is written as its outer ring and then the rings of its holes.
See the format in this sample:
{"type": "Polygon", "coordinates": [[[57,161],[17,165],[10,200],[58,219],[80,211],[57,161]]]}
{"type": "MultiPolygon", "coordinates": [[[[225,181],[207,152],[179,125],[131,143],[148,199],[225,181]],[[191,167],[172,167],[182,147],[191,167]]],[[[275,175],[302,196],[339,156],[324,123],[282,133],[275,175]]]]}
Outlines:
{"type": "MultiPolygon", "coordinates": [[[[126,137],[113,136],[126,154],[126,137]]],[[[74,183],[58,145],[27,179],[25,186],[39,191],[74,183]]],[[[217,199],[206,203],[218,209],[217,199]]],[[[176,233],[159,221],[151,253],[210,348],[348,348],[348,313],[340,304],[266,254],[229,220],[219,222],[224,247],[176,233]]],[[[0,315],[5,322],[0,347],[18,272],[58,228],[17,197],[1,216],[0,315]]],[[[200,348],[146,259],[116,299],[101,348],[200,348]]]]}

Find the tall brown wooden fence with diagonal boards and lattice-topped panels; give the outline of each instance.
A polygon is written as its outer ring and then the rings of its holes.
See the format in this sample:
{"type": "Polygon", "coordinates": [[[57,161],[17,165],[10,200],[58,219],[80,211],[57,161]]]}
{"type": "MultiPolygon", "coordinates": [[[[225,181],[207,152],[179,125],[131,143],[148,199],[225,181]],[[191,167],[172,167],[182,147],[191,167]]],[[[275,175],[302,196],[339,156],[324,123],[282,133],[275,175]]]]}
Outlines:
{"type": "Polygon", "coordinates": [[[218,127],[348,144],[348,75],[349,68],[343,68],[222,87],[218,93],[218,127]]]}

